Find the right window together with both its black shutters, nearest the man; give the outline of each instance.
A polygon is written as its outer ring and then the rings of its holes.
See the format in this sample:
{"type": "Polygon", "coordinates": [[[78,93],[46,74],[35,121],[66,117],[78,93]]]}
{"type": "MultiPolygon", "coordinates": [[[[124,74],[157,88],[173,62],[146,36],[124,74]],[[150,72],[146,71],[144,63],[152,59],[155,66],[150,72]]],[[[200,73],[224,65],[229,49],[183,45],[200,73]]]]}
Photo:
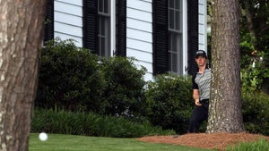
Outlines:
{"type": "Polygon", "coordinates": [[[154,0],[153,75],[193,74],[198,50],[198,1],[154,0]]]}

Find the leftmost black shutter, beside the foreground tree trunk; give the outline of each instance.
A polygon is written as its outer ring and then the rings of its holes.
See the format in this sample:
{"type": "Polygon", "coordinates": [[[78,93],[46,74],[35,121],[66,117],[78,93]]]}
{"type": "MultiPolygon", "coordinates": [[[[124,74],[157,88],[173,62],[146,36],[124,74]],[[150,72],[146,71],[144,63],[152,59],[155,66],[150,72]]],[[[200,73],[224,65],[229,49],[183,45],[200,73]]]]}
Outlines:
{"type": "Polygon", "coordinates": [[[48,0],[44,41],[48,41],[53,38],[54,38],[54,0],[48,0]]]}

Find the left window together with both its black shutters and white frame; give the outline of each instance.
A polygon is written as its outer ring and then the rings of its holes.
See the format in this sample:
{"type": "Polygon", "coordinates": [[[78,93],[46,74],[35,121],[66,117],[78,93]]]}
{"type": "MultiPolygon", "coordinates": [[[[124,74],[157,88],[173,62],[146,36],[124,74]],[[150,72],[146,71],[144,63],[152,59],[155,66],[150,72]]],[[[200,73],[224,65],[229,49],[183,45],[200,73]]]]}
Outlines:
{"type": "Polygon", "coordinates": [[[126,20],[122,19],[126,19],[126,0],[82,2],[83,47],[100,56],[125,56],[126,20]]]}

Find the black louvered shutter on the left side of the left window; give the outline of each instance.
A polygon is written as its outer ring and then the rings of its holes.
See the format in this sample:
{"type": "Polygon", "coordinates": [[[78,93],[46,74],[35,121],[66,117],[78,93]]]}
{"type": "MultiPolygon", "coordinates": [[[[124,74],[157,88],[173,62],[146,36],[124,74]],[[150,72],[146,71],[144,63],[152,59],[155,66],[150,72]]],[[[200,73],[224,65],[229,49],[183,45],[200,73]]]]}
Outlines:
{"type": "Polygon", "coordinates": [[[98,54],[98,1],[83,0],[83,47],[98,54]]]}

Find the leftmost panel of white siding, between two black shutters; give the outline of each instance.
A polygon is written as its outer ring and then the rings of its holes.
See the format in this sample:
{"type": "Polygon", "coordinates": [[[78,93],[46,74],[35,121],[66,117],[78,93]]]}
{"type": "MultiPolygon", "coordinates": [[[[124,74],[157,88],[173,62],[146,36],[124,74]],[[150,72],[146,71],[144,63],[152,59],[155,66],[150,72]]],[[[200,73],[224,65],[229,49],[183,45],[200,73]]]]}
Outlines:
{"type": "Polygon", "coordinates": [[[82,0],[55,0],[54,5],[55,38],[72,38],[82,46],[82,0]]]}

